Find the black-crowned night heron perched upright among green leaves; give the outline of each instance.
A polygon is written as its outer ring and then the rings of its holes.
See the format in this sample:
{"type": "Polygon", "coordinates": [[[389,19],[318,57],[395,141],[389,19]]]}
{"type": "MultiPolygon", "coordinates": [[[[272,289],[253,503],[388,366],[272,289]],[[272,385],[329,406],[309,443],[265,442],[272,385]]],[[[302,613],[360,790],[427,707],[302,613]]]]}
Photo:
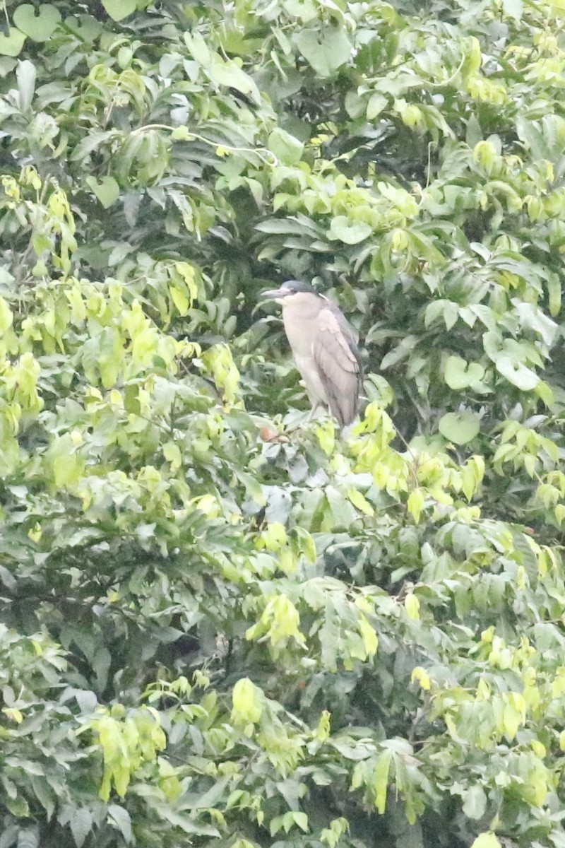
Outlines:
{"type": "Polygon", "coordinates": [[[355,334],[341,310],[312,286],[288,280],[263,292],[283,308],[286,337],[306,384],[312,410],[327,406],[340,427],[357,415],[363,378],[355,334]]]}

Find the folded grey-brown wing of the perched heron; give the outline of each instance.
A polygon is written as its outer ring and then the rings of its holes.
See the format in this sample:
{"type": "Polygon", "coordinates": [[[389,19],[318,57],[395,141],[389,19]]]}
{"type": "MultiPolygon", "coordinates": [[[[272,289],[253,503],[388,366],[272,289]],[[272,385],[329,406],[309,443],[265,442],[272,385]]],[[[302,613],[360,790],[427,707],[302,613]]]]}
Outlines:
{"type": "Polygon", "coordinates": [[[324,384],[330,411],[340,427],[357,415],[363,378],[361,357],[352,328],[333,304],[320,310],[312,353],[324,384]]]}

